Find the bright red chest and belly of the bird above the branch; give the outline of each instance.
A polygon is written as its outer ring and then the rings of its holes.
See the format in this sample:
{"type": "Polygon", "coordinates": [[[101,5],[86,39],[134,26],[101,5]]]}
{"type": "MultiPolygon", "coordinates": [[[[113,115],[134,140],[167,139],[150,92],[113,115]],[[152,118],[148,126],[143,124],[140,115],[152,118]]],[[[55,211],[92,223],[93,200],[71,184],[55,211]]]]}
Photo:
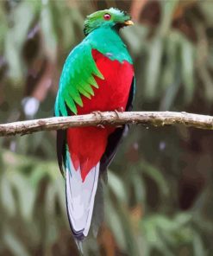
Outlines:
{"type": "Polygon", "coordinates": [[[128,61],[111,61],[110,53],[101,54],[92,50],[92,56],[104,80],[95,77],[99,87],[93,87],[94,96],[91,99],[82,97],[83,107],[78,106],[78,114],[125,109],[134,76],[133,66],[128,61]]]}

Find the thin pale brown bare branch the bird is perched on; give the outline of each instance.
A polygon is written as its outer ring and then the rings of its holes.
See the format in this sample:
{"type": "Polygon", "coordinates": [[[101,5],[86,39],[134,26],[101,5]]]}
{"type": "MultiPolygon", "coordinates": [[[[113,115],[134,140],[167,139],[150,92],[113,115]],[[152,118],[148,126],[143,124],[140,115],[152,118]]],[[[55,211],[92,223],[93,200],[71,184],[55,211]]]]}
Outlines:
{"type": "Polygon", "coordinates": [[[94,112],[82,116],[42,118],[0,125],[0,137],[82,126],[185,125],[213,130],[213,117],[187,112],[94,112]]]}

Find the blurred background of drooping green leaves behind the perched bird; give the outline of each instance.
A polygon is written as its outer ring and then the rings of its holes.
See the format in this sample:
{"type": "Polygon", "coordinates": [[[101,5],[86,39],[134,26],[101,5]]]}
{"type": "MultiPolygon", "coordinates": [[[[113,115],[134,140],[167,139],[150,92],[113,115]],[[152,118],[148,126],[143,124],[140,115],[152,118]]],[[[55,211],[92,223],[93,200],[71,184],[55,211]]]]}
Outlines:
{"type": "MultiPolygon", "coordinates": [[[[53,116],[63,62],[85,16],[127,10],[135,110],[213,115],[212,1],[0,1],[0,122],[53,116]]],[[[212,255],[213,132],[132,125],[85,255],[212,255]]],[[[0,138],[0,255],[78,255],[55,132],[0,138]]]]}

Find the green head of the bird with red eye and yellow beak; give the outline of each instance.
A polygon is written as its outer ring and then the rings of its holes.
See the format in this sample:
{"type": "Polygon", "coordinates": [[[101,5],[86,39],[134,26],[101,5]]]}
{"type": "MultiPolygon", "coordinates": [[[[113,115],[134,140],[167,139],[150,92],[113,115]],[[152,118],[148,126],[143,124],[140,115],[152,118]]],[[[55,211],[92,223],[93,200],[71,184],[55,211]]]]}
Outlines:
{"type": "Polygon", "coordinates": [[[125,11],[115,8],[98,10],[86,17],[84,33],[88,35],[91,31],[100,27],[110,27],[119,30],[133,24],[131,17],[125,11]]]}

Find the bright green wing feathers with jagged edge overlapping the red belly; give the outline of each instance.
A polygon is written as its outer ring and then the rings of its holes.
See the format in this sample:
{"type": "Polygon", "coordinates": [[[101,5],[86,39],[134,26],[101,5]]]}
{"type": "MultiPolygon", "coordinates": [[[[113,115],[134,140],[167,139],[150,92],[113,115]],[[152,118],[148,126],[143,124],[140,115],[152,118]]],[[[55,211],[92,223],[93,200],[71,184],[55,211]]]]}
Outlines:
{"type": "Polygon", "coordinates": [[[92,86],[98,88],[94,75],[104,79],[91,54],[91,45],[81,43],[68,55],[60,77],[60,88],[55,101],[55,116],[67,116],[66,106],[77,114],[83,106],[81,96],[91,99],[92,86]]]}

